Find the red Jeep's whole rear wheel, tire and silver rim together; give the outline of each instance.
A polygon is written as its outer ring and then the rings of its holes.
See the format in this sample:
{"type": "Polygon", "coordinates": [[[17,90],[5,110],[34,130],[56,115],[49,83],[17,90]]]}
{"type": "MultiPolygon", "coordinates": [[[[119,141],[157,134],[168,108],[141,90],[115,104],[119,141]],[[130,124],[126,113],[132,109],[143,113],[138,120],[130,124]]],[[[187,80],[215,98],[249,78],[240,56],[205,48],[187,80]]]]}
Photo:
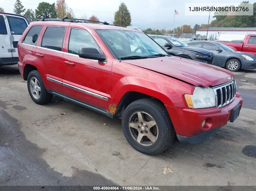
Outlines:
{"type": "Polygon", "coordinates": [[[28,93],[35,103],[43,105],[52,100],[53,95],[47,92],[38,70],[29,72],[27,85],[28,93]]]}

